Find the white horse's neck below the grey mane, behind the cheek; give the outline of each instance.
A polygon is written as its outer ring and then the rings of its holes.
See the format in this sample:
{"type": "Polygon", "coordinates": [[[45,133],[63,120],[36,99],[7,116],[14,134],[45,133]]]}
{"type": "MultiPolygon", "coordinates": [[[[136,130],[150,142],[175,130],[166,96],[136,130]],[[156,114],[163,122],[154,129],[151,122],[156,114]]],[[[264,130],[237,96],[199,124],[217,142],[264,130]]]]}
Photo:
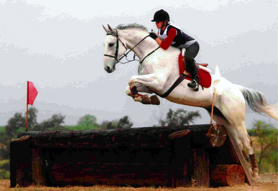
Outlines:
{"type": "MultiPolygon", "coordinates": [[[[123,30],[120,33],[126,40],[126,45],[128,49],[132,49],[137,43],[139,43],[144,37],[148,36],[148,32],[140,30],[123,30]]],[[[152,38],[145,38],[136,47],[134,47],[133,52],[142,60],[148,53],[153,51],[158,47],[158,44],[152,38]]]]}

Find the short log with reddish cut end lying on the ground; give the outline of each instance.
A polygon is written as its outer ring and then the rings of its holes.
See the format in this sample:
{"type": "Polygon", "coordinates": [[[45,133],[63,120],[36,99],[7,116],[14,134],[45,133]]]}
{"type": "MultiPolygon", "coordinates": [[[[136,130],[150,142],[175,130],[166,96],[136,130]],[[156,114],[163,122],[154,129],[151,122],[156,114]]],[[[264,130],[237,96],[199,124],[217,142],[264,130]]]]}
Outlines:
{"type": "Polygon", "coordinates": [[[244,183],[245,173],[238,165],[217,165],[212,170],[211,178],[217,186],[234,186],[244,183]]]}

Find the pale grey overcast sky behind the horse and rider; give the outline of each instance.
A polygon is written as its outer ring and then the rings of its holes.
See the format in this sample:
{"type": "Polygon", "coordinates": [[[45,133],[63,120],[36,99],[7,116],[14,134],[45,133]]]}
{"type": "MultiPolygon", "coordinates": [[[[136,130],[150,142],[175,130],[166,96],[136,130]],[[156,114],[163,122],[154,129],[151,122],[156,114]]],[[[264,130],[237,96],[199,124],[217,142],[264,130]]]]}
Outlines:
{"type": "MultiPolygon", "coordinates": [[[[195,124],[210,123],[205,109],[171,103],[143,105],[126,96],[138,61],[103,70],[102,24],[138,23],[157,31],[151,20],[159,9],[171,22],[195,38],[199,63],[219,65],[220,74],[232,83],[263,92],[268,103],[277,103],[277,1],[3,1],[0,0],[0,126],[15,112],[26,112],[26,81],[38,96],[38,122],[52,114],[66,115],[75,125],[86,114],[98,123],[128,115],[133,127],[148,127],[164,119],[169,109],[199,110],[195,124]]],[[[130,55],[132,57],[132,55],[130,55]]],[[[201,90],[199,90],[201,91],[201,90]]],[[[31,106],[29,106],[31,107],[31,106]]],[[[246,115],[246,126],[265,120],[246,115]]]]}

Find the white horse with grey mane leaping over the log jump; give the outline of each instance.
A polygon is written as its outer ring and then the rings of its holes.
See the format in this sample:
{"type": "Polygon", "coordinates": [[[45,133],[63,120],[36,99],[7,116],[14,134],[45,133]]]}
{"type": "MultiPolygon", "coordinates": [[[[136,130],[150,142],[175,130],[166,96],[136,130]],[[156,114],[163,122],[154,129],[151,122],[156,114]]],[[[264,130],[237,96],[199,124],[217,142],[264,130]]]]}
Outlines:
{"type": "MultiPolygon", "coordinates": [[[[108,25],[108,28],[104,26],[103,28],[107,33],[104,43],[105,71],[113,72],[118,59],[124,55],[127,49],[131,49],[141,61],[143,59],[144,61],[139,64],[139,75],[130,78],[126,94],[133,97],[134,101],[158,104],[156,96],[149,99],[147,94],[141,95],[138,92],[164,94],[180,76],[178,56],[181,51],[170,46],[167,50],[160,48],[148,55],[158,48],[158,44],[150,37],[142,40],[149,33],[144,26],[139,24],[119,25],[115,29],[108,25]],[[148,56],[146,57],[146,55],[148,56]]],[[[252,142],[245,126],[246,104],[253,111],[265,113],[276,120],[277,105],[268,105],[261,92],[232,84],[223,77],[211,76],[212,82],[220,80],[218,87],[221,87],[215,94],[213,119],[219,124],[235,128],[238,135],[237,142],[242,151],[244,151],[244,147],[247,149],[252,163],[252,170],[249,170],[253,178],[256,179],[258,178],[258,166],[254,158],[252,142]]],[[[189,80],[183,80],[166,99],[178,104],[202,107],[211,114],[213,85],[210,88],[204,88],[204,90],[199,88],[199,91],[195,92],[187,86],[189,82],[189,80]]]]}

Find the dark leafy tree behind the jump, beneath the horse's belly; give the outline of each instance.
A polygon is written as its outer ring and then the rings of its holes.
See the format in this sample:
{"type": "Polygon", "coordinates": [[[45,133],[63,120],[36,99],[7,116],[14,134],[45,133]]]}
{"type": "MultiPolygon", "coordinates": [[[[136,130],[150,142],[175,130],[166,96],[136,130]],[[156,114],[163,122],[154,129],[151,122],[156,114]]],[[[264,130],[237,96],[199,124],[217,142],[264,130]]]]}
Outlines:
{"type": "Polygon", "coordinates": [[[199,111],[186,111],[184,109],[177,109],[177,111],[173,111],[169,109],[166,120],[159,120],[160,126],[180,126],[180,125],[189,125],[193,123],[193,121],[201,115],[199,111]]]}

